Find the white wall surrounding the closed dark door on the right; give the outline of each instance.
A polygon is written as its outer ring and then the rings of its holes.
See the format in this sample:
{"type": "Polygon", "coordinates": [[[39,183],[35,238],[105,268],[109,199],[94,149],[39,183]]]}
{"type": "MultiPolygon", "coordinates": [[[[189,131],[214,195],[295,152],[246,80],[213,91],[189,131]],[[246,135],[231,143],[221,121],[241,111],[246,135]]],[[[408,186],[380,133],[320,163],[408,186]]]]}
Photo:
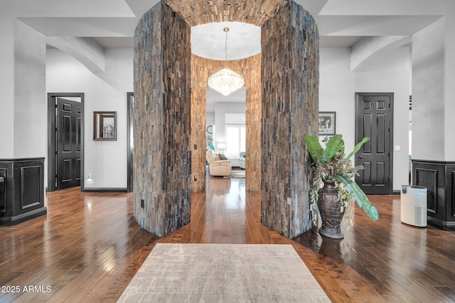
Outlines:
{"type": "Polygon", "coordinates": [[[400,48],[380,53],[350,72],[349,48],[321,48],[319,111],[336,111],[336,133],[343,135],[346,150],[355,145],[355,92],[393,92],[394,151],[393,190],[408,183],[408,112],[410,52],[400,48]]]}

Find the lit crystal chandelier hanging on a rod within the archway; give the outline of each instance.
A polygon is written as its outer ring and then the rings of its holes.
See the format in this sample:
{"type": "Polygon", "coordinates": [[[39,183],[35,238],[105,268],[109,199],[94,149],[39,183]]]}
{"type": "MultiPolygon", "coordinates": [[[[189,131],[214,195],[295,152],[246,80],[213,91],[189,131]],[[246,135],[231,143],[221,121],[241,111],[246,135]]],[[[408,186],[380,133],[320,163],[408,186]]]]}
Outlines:
{"type": "Polygon", "coordinates": [[[245,80],[242,76],[237,74],[228,68],[226,68],[226,62],[228,61],[228,31],[229,28],[223,28],[223,31],[226,33],[226,42],[225,42],[225,68],[219,72],[208,77],[208,86],[215,89],[215,91],[223,94],[223,96],[228,96],[235,92],[240,87],[243,87],[245,80]]]}

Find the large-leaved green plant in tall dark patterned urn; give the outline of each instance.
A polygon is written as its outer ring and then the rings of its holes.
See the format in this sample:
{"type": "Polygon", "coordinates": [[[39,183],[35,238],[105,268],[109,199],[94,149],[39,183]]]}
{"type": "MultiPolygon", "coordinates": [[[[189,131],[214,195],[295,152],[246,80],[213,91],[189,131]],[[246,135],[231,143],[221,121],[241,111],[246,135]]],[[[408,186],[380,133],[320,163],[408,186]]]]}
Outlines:
{"type": "Polygon", "coordinates": [[[363,138],[355,145],[352,153],[345,157],[344,141],[341,135],[334,135],[326,141],[323,148],[316,136],[305,136],[305,143],[313,159],[311,165],[314,181],[310,187],[311,221],[316,225],[318,212],[321,212],[322,226],[319,233],[329,238],[343,238],[341,221],[352,226],[353,202],[365,211],[373,221],[378,221],[378,209],[370,203],[365,193],[353,181],[363,166],[353,167],[350,158],[370,140],[363,138]]]}

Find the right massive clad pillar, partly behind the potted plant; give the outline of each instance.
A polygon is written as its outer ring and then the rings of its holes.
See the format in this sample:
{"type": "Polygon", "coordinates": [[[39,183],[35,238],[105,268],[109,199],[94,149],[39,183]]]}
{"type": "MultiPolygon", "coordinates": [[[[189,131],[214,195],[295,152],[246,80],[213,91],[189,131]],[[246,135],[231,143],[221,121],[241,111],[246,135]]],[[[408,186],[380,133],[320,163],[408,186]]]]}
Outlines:
{"type": "Polygon", "coordinates": [[[262,26],[262,224],[289,238],[311,228],[310,160],[317,135],[319,33],[294,1],[262,26]]]}

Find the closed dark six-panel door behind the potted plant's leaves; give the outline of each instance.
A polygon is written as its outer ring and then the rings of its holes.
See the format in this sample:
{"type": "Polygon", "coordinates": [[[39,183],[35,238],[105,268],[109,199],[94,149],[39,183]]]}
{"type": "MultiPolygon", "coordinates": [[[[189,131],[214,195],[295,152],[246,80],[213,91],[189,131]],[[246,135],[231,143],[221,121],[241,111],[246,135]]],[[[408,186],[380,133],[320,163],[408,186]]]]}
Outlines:
{"type": "Polygon", "coordinates": [[[393,94],[357,93],[355,143],[371,140],[355,155],[363,165],[355,182],[365,194],[392,194],[392,100],[393,94]]]}

